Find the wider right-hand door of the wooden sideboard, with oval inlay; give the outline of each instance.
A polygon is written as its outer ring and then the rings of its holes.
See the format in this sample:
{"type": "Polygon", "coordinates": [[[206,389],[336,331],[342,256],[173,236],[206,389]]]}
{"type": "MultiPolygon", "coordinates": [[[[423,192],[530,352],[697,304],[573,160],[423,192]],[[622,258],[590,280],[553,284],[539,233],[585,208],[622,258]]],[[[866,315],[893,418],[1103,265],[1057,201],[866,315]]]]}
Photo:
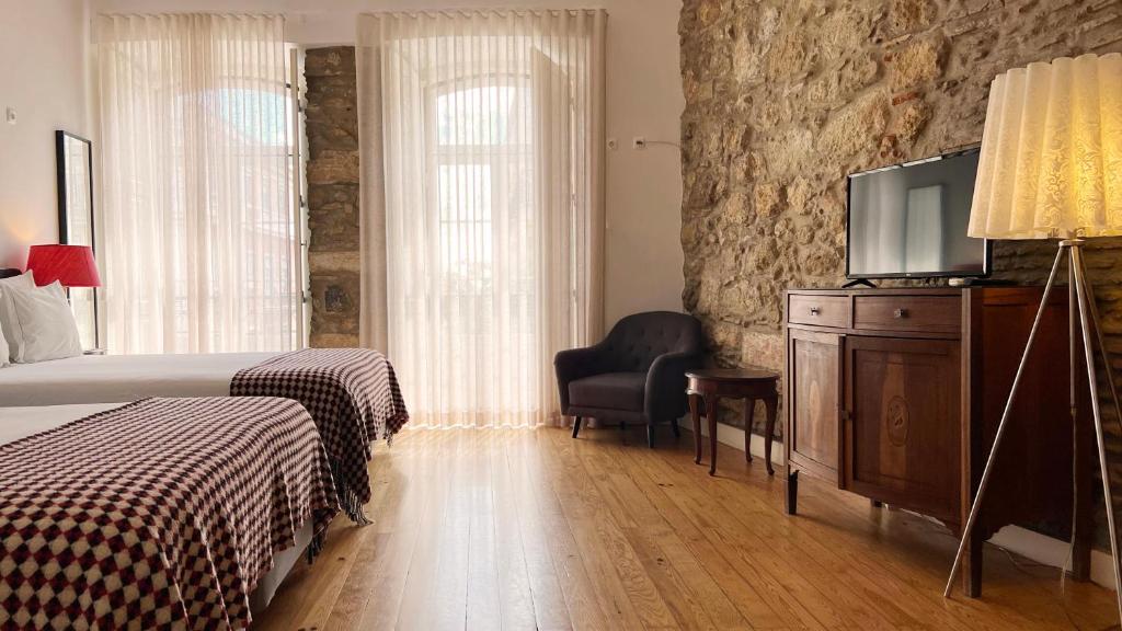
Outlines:
{"type": "Polygon", "coordinates": [[[960,374],[957,340],[848,337],[843,486],[956,522],[960,374]]]}

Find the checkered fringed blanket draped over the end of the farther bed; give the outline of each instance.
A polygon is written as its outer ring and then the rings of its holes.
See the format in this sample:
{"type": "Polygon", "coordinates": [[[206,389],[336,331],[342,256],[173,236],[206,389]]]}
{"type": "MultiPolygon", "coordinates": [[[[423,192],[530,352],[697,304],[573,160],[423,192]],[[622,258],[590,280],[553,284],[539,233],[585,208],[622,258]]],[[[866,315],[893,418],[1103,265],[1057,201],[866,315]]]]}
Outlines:
{"type": "Polygon", "coordinates": [[[339,503],[357,523],[369,523],[367,463],[375,440],[393,438],[408,422],[394,367],[377,350],[307,348],[239,371],[233,396],[284,396],[315,419],[334,474],[339,503]]]}

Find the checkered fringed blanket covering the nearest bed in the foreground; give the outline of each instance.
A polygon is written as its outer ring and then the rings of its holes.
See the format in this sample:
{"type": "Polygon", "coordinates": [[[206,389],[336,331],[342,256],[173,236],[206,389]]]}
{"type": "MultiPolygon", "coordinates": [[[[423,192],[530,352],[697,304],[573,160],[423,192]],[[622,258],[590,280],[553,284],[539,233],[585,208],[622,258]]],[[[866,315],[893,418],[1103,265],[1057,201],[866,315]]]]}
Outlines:
{"type": "Polygon", "coordinates": [[[307,412],[147,399],[0,446],[0,629],[239,629],[338,512],[307,412]]]}

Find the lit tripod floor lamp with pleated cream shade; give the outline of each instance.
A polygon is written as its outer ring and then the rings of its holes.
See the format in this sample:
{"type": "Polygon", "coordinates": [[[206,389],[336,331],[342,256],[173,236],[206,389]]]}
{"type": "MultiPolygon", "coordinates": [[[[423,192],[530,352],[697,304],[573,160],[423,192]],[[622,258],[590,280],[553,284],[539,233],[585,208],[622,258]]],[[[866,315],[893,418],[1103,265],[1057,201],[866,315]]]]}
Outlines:
{"type": "MultiPolygon", "coordinates": [[[[1061,240],[963,529],[963,540],[958,545],[944,596],[950,595],[977,521],[1001,440],[1011,422],[1013,399],[1056,284],[1060,262],[1065,258],[1068,292],[1073,301],[1072,317],[1074,320],[1077,312],[1079,320],[1078,333],[1072,326],[1074,322],[1068,327],[1073,346],[1072,404],[1075,405],[1077,369],[1074,349],[1078,345],[1086,357],[1106,499],[1106,523],[1114,559],[1114,585],[1119,589],[1122,587],[1122,565],[1119,563],[1103,417],[1097,396],[1096,345],[1102,353],[1120,422],[1122,408],[1103,344],[1094,291],[1087,282],[1083,247],[1087,238],[1122,235],[1122,55],[1061,57],[1051,63],[1014,68],[994,79],[990,88],[968,234],[990,239],[1061,240]]],[[[1118,593],[1118,606],[1122,620],[1122,591],[1118,593]]]]}

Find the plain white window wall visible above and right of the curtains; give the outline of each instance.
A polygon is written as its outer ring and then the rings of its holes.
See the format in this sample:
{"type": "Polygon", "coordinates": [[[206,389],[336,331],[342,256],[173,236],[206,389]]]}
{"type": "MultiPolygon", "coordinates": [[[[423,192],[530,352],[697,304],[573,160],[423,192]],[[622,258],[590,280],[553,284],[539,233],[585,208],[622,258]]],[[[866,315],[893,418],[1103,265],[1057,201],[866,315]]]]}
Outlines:
{"type": "Polygon", "coordinates": [[[457,7],[608,10],[608,152],[605,311],[610,326],[635,311],[681,310],[682,177],[678,148],[631,148],[632,138],[679,140],[684,107],[679,70],[680,0],[91,0],[95,12],[283,12],[288,36],[309,46],[355,42],[362,11],[457,7]]]}

